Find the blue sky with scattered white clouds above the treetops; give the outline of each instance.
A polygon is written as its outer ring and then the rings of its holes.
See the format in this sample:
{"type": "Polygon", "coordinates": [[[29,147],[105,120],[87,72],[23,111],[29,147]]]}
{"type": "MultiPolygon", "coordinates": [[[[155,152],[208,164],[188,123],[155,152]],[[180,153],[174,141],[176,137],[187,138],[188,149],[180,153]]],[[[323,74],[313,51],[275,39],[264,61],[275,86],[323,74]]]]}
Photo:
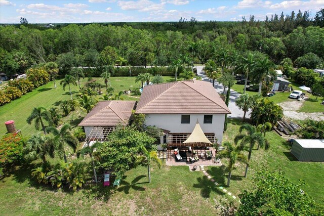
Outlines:
{"type": "Polygon", "coordinates": [[[308,1],[219,1],[219,0],[73,0],[13,1],[0,0],[0,23],[18,23],[25,17],[29,23],[84,23],[178,21],[180,17],[198,21],[240,21],[250,14],[264,20],[274,14],[309,10],[313,17],[324,0],[308,1]]]}

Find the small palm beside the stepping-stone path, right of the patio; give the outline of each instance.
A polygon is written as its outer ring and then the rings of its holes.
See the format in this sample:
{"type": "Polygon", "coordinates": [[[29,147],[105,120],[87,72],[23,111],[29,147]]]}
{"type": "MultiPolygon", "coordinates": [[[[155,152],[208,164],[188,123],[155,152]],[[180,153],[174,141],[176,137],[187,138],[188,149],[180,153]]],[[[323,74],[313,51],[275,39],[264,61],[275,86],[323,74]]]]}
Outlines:
{"type": "Polygon", "coordinates": [[[248,158],[247,156],[241,153],[241,151],[243,150],[242,146],[233,145],[228,141],[224,142],[223,146],[225,147],[225,149],[219,152],[219,157],[228,158],[229,160],[227,166],[228,169],[227,186],[229,186],[232,170],[235,169],[234,165],[236,161],[248,164],[248,158]]]}

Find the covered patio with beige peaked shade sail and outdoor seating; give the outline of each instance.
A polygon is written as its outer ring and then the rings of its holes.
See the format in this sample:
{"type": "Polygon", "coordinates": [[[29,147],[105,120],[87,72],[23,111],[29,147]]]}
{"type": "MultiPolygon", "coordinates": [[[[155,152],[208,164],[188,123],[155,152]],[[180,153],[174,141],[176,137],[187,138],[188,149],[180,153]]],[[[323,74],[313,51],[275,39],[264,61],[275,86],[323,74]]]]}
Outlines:
{"type": "Polygon", "coordinates": [[[215,134],[205,134],[197,121],[191,134],[169,134],[167,165],[221,165],[215,134]]]}

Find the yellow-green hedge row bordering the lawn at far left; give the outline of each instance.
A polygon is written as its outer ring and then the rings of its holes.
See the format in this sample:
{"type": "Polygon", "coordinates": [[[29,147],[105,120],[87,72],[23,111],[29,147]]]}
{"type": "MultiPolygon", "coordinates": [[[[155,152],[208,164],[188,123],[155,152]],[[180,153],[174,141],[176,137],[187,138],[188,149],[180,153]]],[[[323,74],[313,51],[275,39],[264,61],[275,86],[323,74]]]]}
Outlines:
{"type": "Polygon", "coordinates": [[[44,68],[30,68],[27,70],[26,79],[10,80],[4,90],[0,91],[0,106],[20,98],[49,81],[50,75],[44,68]]]}

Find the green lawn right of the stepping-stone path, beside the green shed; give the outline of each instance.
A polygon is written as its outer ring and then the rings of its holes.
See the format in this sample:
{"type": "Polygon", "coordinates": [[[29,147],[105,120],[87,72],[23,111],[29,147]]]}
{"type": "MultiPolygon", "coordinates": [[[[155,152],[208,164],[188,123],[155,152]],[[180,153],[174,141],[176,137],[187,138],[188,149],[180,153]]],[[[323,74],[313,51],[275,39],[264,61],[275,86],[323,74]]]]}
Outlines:
{"type": "MultiPolygon", "coordinates": [[[[230,119],[229,127],[224,135],[225,141],[233,142],[234,137],[238,133],[238,128],[242,124],[240,120],[230,119]]],[[[285,139],[281,138],[276,132],[267,133],[266,138],[270,142],[270,149],[264,151],[263,149],[254,150],[251,157],[250,169],[248,177],[244,178],[245,165],[237,164],[232,172],[230,187],[227,189],[235,196],[243,190],[253,189],[252,177],[258,169],[282,169],[285,171],[285,176],[294,183],[299,183],[299,180],[304,180],[308,186],[302,186],[302,190],[312,196],[316,202],[324,204],[324,163],[323,162],[299,162],[289,151],[291,144],[285,139]]],[[[248,152],[246,152],[248,155],[248,152]]],[[[216,180],[216,182],[226,187],[227,174],[226,159],[221,160],[222,167],[206,167],[207,172],[216,180]]]]}

